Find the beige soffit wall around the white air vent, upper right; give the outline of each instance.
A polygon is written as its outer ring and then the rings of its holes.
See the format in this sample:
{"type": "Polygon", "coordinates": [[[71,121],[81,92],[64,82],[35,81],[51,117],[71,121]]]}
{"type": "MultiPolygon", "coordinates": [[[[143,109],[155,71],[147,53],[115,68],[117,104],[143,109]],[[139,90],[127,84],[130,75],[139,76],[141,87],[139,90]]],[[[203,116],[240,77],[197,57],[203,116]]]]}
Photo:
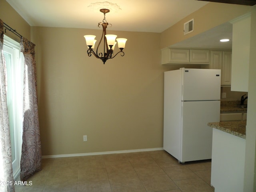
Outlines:
{"type": "Polygon", "coordinates": [[[251,10],[251,6],[208,3],[161,33],[161,48],[205,32],[251,10]],[[194,31],[184,35],[184,23],[194,18],[194,31]]]}

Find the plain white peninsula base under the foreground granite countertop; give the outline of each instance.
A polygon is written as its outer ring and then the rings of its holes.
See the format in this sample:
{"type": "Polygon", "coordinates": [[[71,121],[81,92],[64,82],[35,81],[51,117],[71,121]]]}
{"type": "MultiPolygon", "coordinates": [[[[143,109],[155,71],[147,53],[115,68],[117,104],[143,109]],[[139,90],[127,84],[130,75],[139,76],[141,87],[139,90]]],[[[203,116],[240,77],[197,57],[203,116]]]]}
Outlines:
{"type": "Polygon", "coordinates": [[[213,128],[211,185],[214,192],[242,192],[245,142],[238,136],[213,128]]]}

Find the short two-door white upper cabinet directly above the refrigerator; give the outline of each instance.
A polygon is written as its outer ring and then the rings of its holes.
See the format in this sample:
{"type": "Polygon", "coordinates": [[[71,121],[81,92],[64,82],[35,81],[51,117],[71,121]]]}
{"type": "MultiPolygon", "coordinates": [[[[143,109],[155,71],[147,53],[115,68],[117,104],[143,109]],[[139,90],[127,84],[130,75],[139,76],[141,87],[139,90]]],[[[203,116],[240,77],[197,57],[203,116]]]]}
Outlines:
{"type": "Polygon", "coordinates": [[[209,62],[209,50],[162,49],[162,64],[209,64],[209,62]]]}

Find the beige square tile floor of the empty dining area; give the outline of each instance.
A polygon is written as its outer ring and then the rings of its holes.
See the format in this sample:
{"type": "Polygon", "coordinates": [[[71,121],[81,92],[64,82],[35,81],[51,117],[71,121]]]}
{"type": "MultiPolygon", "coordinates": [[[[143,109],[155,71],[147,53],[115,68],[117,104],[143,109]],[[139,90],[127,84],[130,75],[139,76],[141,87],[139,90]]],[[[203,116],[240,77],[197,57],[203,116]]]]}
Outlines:
{"type": "Polygon", "coordinates": [[[211,161],[180,164],[164,150],[42,159],[16,192],[214,192],[211,161]],[[29,182],[28,182],[29,184],[29,182]],[[31,184],[31,183],[30,183],[31,184]]]}

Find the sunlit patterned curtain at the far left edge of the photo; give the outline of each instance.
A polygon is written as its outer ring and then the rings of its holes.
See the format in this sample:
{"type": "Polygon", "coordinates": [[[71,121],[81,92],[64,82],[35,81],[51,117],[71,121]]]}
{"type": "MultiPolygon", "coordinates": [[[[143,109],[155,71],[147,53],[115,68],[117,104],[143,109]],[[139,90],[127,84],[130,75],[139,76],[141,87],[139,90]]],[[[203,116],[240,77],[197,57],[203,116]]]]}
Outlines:
{"type": "Polygon", "coordinates": [[[0,20],[0,191],[15,192],[12,175],[12,148],[6,100],[4,64],[4,25],[0,20]]]}

